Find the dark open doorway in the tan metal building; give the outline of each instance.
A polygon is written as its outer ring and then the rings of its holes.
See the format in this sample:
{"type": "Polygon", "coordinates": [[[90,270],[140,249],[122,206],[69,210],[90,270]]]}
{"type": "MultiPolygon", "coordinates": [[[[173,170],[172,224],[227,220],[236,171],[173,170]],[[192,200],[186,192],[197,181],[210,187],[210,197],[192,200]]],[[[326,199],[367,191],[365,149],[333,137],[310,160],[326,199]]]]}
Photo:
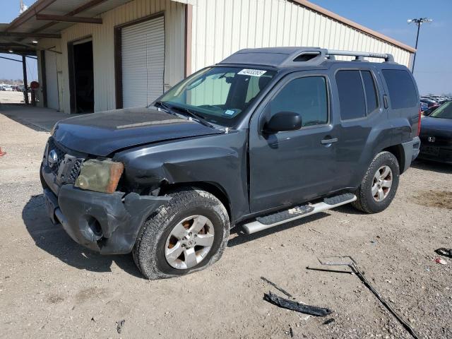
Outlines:
{"type": "Polygon", "coordinates": [[[93,40],[69,42],[71,113],[94,112],[93,40]]]}

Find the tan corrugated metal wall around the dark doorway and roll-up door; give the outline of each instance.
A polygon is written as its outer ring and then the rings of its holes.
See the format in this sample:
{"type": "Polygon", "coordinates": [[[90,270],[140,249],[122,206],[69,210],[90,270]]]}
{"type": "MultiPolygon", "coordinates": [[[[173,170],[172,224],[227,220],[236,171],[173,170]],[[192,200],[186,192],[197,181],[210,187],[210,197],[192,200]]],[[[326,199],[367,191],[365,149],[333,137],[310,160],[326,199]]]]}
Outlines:
{"type": "Polygon", "coordinates": [[[68,42],[93,37],[95,112],[115,109],[114,27],[162,11],[165,11],[165,88],[184,78],[185,5],[170,0],[131,1],[102,14],[102,25],[76,24],[62,32],[60,97],[64,112],[70,112],[68,42]]]}

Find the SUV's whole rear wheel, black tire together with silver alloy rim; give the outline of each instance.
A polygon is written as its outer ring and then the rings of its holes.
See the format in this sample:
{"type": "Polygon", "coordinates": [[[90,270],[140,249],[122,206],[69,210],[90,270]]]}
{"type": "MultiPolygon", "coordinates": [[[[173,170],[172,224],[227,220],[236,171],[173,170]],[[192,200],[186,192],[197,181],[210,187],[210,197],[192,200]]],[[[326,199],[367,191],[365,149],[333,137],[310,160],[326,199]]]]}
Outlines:
{"type": "Polygon", "coordinates": [[[394,196],[396,196],[399,177],[400,168],[397,158],[390,152],[377,154],[355,192],[357,200],[352,203],[352,206],[357,208],[357,210],[369,214],[386,210],[391,204],[391,201],[393,201],[394,196]],[[379,179],[386,174],[387,167],[390,169],[390,172],[388,172],[384,179],[391,178],[389,189],[387,187],[389,180],[379,179]],[[377,174],[377,171],[379,171],[379,174],[377,174]],[[372,191],[373,189],[374,191],[372,191]],[[375,191],[375,189],[378,190],[375,191]],[[381,194],[381,191],[383,191],[383,194],[381,194]],[[375,195],[374,192],[376,192],[375,195]]]}

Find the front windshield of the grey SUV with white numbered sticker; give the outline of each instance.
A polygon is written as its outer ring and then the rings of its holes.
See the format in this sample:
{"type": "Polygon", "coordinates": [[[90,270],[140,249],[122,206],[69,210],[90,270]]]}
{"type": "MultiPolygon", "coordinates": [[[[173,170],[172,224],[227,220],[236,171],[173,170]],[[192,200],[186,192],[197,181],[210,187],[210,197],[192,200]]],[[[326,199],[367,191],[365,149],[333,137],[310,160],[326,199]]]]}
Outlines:
{"type": "Polygon", "coordinates": [[[275,73],[260,69],[210,67],[182,81],[158,102],[170,108],[189,109],[213,124],[233,126],[275,73]]]}

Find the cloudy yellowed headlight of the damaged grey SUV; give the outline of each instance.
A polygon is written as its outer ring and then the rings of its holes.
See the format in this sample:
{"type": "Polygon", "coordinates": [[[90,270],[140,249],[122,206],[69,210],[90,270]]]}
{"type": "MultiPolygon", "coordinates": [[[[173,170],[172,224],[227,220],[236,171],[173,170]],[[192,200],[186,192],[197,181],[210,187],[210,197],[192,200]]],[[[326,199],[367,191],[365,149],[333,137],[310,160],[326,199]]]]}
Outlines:
{"type": "Polygon", "coordinates": [[[87,160],[83,162],[75,186],[89,191],[113,193],[117,189],[122,172],[124,172],[122,162],[114,162],[110,159],[87,160]]]}

